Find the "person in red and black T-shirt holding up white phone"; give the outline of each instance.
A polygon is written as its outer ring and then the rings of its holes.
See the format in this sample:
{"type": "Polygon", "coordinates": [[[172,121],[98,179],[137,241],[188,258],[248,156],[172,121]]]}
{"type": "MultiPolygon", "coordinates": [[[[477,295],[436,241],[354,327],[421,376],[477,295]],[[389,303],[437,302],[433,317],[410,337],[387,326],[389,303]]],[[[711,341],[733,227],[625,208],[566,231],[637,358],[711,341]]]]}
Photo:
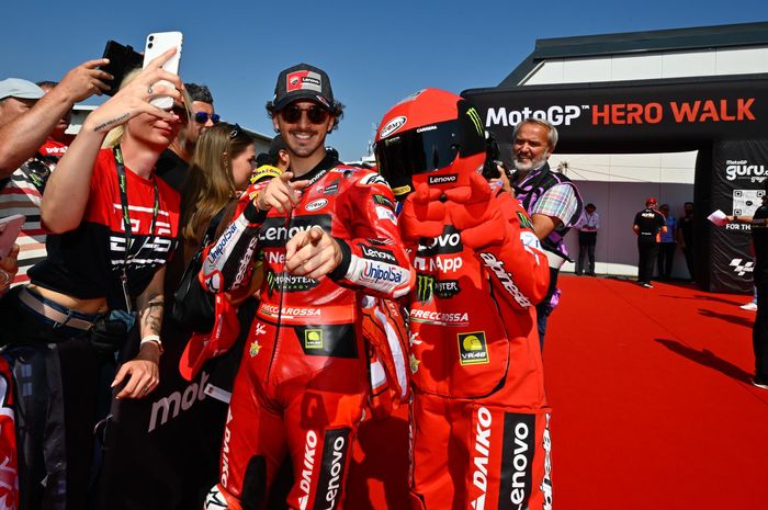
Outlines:
{"type": "Polygon", "coordinates": [[[87,508],[93,430],[110,384],[118,399],[144,398],[158,384],[163,268],[179,195],[154,168],[188,118],[181,80],[161,68],[173,53],[86,118],[43,195],[48,257],[0,303],[0,345],[18,389],[21,509],[87,508]],[[150,104],[158,97],[172,98],[173,109],[150,104]],[[102,149],[117,126],[117,145],[102,149]],[[138,353],[114,375],[135,320],[138,353]]]}

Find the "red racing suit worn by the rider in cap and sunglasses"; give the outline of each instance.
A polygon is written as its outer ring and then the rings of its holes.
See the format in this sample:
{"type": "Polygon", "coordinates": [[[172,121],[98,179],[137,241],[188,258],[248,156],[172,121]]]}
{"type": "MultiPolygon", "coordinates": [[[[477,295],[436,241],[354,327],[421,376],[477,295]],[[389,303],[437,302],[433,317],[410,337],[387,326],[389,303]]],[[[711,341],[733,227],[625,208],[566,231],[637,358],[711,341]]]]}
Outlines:
{"type": "Polygon", "coordinates": [[[349,445],[369,390],[361,331],[364,294],[399,297],[415,274],[397,230],[386,182],[369,170],[326,158],[302,179],[310,184],[291,216],[257,212],[244,195],[241,213],[203,264],[208,288],[248,283],[255,252],[263,256],[261,303],[235,379],[219,484],[206,508],[262,508],[285,454],[291,455],[293,509],[336,509],[349,463],[349,445]],[[342,262],[312,280],[284,269],[285,243],[321,227],[338,241],[342,262]],[[218,506],[217,506],[218,505],[218,506]]]}

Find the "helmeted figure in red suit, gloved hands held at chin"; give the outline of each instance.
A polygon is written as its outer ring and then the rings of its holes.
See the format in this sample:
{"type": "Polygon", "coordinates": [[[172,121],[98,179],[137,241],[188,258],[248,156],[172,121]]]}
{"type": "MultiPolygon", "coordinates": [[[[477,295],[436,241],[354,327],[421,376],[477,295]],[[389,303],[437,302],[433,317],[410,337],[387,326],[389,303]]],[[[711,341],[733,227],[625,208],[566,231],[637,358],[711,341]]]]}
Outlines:
{"type": "Polygon", "coordinates": [[[398,218],[417,272],[411,508],[550,509],[550,408],[534,308],[549,268],[517,200],[477,173],[478,121],[461,98],[427,89],[384,116],[376,140],[395,193],[416,189],[398,218]]]}

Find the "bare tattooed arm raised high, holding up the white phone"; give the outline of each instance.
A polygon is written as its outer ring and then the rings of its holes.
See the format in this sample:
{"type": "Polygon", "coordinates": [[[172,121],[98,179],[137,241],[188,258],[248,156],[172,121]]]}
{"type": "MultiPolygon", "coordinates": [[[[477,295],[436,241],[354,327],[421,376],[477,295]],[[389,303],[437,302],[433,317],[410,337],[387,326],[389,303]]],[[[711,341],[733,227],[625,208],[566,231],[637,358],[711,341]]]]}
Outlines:
{"type": "Polygon", "coordinates": [[[41,218],[47,229],[60,234],[80,225],[88,203],[93,166],[110,129],[140,113],[167,121],[176,120],[173,113],[149,104],[151,99],[159,95],[170,95],[176,101],[181,99],[181,80],[161,68],[174,53],[176,48],[172,48],[157,57],[131,83],[88,115],[46,184],[41,218]],[[168,90],[156,84],[159,80],[168,80],[176,88],[168,90]]]}

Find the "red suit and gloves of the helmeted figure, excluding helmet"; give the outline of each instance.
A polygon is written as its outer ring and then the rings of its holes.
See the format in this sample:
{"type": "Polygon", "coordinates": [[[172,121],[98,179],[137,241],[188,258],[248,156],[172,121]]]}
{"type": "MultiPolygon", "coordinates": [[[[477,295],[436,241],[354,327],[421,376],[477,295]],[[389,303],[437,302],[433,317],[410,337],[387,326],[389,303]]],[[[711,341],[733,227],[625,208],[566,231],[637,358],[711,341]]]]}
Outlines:
{"type": "MultiPolygon", "coordinates": [[[[413,253],[411,508],[550,509],[550,408],[534,308],[549,284],[546,257],[511,194],[486,197],[496,201],[494,219],[483,204],[442,199],[430,205],[442,211],[441,224],[430,218],[442,233],[413,253]]],[[[399,217],[407,243],[429,228],[408,201],[399,217]]]]}

